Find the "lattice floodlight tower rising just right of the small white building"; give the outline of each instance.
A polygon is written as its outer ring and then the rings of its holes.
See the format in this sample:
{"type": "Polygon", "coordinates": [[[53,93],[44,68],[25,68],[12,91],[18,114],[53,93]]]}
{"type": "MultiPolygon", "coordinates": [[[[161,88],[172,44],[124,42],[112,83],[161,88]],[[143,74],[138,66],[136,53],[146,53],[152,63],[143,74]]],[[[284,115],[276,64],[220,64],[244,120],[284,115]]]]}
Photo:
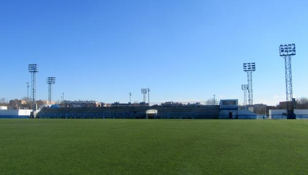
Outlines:
{"type": "Polygon", "coordinates": [[[253,105],[253,72],[256,71],[256,64],[254,62],[243,63],[243,68],[247,72],[248,103],[253,105]]]}

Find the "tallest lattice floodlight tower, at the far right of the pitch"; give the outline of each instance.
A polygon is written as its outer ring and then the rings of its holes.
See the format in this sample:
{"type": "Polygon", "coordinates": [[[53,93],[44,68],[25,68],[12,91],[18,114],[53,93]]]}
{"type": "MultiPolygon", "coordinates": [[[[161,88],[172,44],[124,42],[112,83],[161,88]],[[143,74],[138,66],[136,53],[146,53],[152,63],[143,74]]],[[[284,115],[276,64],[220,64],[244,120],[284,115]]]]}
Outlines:
{"type": "Polygon", "coordinates": [[[287,119],[296,119],[294,114],[294,104],[292,101],[292,68],[291,58],[296,54],[295,43],[288,45],[280,45],[279,55],[284,59],[284,70],[285,70],[285,92],[286,92],[286,110],[287,119]]]}

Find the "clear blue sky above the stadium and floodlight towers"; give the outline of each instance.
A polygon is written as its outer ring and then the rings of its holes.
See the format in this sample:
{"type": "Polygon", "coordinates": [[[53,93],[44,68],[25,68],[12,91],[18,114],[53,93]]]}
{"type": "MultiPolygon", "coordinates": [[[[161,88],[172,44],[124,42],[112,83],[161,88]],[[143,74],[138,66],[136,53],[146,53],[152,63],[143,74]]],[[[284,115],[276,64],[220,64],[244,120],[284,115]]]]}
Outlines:
{"type": "Polygon", "coordinates": [[[285,100],[279,45],[296,43],[294,97],[307,97],[308,1],[1,1],[0,97],[152,102],[239,99],[256,62],[254,103],[285,100]]]}

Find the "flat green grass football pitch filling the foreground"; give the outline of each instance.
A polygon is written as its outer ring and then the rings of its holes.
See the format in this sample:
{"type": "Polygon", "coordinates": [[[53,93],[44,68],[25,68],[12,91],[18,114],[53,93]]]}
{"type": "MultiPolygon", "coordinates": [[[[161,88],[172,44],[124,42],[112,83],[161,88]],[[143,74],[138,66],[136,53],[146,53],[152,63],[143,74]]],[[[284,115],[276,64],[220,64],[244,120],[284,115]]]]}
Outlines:
{"type": "Polygon", "coordinates": [[[308,120],[0,119],[0,174],[308,173],[308,120]]]}

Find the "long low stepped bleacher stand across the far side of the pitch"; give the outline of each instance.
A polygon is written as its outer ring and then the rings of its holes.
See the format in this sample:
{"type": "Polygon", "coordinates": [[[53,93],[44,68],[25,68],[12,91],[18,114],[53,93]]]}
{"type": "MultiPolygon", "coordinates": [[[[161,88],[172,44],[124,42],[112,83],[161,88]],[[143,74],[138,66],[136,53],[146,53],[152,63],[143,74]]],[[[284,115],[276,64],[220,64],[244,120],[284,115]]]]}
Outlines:
{"type": "Polygon", "coordinates": [[[217,119],[219,105],[196,106],[119,106],[119,107],[44,107],[38,118],[65,119],[143,119],[146,110],[158,110],[157,119],[217,119]]]}

